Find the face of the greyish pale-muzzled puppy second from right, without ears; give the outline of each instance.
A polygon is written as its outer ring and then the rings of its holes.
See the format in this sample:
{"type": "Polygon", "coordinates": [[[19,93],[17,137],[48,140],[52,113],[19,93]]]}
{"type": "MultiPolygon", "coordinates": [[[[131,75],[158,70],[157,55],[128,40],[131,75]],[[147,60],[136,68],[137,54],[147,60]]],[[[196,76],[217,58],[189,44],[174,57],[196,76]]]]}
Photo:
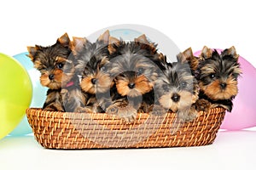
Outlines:
{"type": "Polygon", "coordinates": [[[159,102],[174,112],[189,108],[198,99],[198,87],[189,65],[166,64],[165,77],[157,84],[159,102]]]}

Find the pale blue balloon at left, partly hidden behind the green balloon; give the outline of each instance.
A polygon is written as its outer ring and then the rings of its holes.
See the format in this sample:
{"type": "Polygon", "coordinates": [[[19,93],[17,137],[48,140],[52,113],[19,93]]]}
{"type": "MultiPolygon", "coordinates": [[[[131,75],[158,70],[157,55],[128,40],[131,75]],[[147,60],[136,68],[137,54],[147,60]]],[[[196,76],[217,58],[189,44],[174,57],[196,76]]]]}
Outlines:
{"type": "MultiPolygon", "coordinates": [[[[26,56],[28,53],[16,54],[14,58],[20,62],[20,64],[26,69],[31,81],[32,81],[32,103],[30,107],[39,107],[42,108],[44,105],[44,101],[46,99],[47,89],[40,84],[39,77],[41,76],[40,72],[34,68],[34,65],[26,56]]],[[[20,124],[15,128],[15,130],[9,135],[11,136],[21,136],[32,133],[32,128],[27,122],[26,116],[24,116],[23,120],[20,124]]]]}

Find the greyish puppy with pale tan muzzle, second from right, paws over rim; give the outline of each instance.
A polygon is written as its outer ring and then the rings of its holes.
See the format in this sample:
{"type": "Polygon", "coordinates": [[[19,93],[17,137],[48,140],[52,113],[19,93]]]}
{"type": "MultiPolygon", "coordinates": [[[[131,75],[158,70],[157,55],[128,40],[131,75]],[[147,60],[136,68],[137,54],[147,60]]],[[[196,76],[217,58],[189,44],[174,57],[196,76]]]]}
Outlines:
{"type": "Polygon", "coordinates": [[[176,112],[181,122],[190,122],[198,116],[194,104],[198,99],[199,87],[191,71],[197,65],[191,48],[177,54],[177,62],[166,63],[166,70],[156,83],[158,106],[153,114],[176,112]]]}

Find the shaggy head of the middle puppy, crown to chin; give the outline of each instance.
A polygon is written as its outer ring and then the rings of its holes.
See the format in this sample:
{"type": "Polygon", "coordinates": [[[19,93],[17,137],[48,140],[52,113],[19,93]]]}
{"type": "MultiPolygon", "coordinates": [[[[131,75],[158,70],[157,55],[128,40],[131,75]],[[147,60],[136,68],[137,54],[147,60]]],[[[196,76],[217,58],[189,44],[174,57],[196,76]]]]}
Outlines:
{"type": "Polygon", "coordinates": [[[137,42],[122,41],[113,44],[112,50],[109,72],[120,95],[138,97],[154,88],[159,70],[154,52],[137,42]]]}

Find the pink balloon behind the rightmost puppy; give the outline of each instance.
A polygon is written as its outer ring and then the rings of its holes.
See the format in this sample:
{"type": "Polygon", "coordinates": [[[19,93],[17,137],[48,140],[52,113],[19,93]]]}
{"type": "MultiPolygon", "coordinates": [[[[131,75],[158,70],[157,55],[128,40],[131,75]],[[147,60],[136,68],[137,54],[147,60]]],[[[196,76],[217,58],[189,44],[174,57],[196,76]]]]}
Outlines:
{"type": "MultiPolygon", "coordinates": [[[[222,50],[217,49],[218,53],[222,50]]],[[[195,52],[195,56],[201,51],[195,52]]],[[[233,100],[232,112],[226,112],[222,129],[241,130],[256,127],[256,69],[246,59],[239,57],[241,64],[241,77],[238,77],[238,94],[233,100]]]]}

